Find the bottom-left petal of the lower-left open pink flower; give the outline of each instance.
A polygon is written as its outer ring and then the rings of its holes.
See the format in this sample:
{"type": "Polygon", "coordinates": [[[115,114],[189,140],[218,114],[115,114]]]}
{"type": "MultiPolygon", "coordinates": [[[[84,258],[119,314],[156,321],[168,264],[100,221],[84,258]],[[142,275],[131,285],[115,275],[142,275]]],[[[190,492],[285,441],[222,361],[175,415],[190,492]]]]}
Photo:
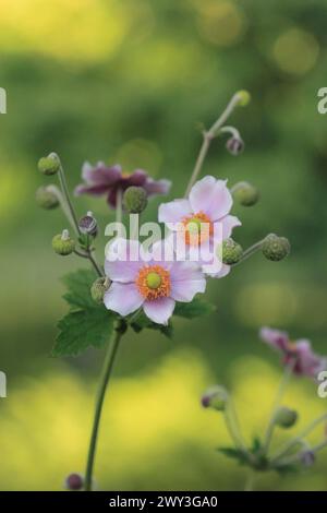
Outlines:
{"type": "Polygon", "coordinates": [[[113,310],[120,315],[137,310],[144,302],[144,297],[138,293],[136,285],[112,283],[105,294],[104,302],[108,310],[113,310]]]}

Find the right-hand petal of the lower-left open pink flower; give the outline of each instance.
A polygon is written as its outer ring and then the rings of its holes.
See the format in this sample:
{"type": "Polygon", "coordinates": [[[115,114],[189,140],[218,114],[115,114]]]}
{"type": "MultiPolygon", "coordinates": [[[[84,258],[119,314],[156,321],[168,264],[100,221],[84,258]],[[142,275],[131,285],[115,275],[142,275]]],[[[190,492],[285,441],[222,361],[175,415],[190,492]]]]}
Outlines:
{"type": "Polygon", "coordinates": [[[174,262],[170,267],[170,295],[177,301],[192,301],[195,294],[206,289],[206,279],[194,262],[174,262]]]}

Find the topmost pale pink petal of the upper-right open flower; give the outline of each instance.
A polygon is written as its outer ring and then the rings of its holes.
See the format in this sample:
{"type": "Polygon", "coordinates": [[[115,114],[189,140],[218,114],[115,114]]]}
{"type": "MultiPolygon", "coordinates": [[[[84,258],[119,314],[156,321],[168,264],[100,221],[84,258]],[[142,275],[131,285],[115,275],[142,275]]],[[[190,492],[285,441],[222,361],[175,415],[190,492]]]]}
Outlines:
{"type": "Polygon", "coordinates": [[[211,220],[217,220],[229,213],[233,201],[226,180],[207,176],[192,187],[190,203],[193,212],[204,212],[211,220]]]}

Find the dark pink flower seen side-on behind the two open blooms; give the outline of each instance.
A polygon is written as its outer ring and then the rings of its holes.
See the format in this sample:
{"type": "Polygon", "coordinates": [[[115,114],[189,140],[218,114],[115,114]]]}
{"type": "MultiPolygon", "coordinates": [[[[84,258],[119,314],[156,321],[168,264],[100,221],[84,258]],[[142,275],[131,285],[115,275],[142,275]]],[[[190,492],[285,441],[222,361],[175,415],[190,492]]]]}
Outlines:
{"type": "Polygon", "coordinates": [[[92,194],[95,196],[107,195],[107,201],[113,208],[117,204],[117,193],[131,186],[143,187],[147,194],[167,194],[170,189],[169,180],[154,180],[143,169],[135,169],[131,174],[122,172],[121,166],[107,166],[98,162],[95,166],[85,163],[82,168],[81,183],[75,189],[75,194],[92,194]]]}

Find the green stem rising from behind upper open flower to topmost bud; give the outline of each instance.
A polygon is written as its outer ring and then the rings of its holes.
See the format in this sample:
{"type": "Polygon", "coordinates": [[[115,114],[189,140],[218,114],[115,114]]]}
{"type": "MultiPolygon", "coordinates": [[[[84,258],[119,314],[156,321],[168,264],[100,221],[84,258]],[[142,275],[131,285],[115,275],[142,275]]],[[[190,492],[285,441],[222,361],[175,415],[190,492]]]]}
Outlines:
{"type": "Polygon", "coordinates": [[[208,150],[210,147],[210,143],[211,143],[213,139],[215,139],[218,135],[219,130],[225,124],[225,122],[227,121],[229,116],[232,114],[232,111],[235,108],[235,106],[238,105],[239,100],[240,100],[240,98],[239,98],[239,95],[237,93],[232,96],[232,98],[230,99],[230,102],[227,105],[226,109],[223,110],[221,116],[217,119],[217,121],[213,124],[213,127],[208,131],[203,132],[203,143],[202,143],[199,154],[197,156],[192,176],[190,178],[190,181],[189,181],[189,184],[187,184],[187,188],[186,188],[186,191],[185,191],[185,198],[187,198],[187,195],[190,194],[190,191],[191,191],[194,182],[196,181],[196,179],[197,179],[197,177],[198,177],[198,175],[202,170],[202,166],[203,166],[204,160],[207,156],[207,153],[208,153],[208,150]]]}

